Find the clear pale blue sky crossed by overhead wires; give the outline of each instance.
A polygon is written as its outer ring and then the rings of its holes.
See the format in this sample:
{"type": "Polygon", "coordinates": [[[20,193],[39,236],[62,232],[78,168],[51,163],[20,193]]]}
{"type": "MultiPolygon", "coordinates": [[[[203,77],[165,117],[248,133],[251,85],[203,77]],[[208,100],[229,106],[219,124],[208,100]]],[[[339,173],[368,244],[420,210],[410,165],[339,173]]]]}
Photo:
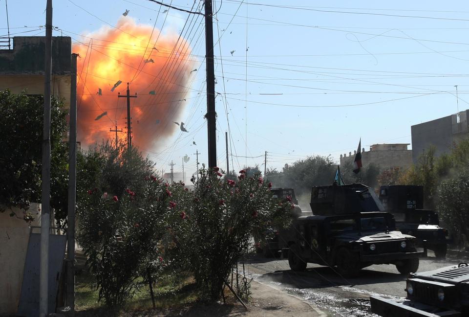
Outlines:
{"type": "MultiPolygon", "coordinates": [[[[172,1],[185,9],[192,3],[172,1]]],[[[160,10],[148,0],[55,0],[53,7],[53,24],[61,30],[54,35],[72,36],[72,41],[80,40],[77,34],[115,25],[126,9],[137,23],[151,25],[160,10]]],[[[307,155],[338,160],[357,148],[360,137],[366,150],[374,143],[410,143],[411,125],[457,112],[454,85],[459,110],[469,109],[467,1],[217,0],[215,7],[215,43],[221,35],[214,52],[222,168],[228,130],[224,105],[235,169],[245,164],[263,169],[264,151],[267,167],[281,169],[307,155]]],[[[45,24],[44,9],[45,0],[9,0],[12,36],[44,35],[39,28],[45,24]]],[[[156,27],[168,14],[163,32],[179,33],[187,14],[163,13],[166,9],[160,10],[156,27]]],[[[2,35],[5,18],[5,0],[0,0],[2,35]]],[[[199,69],[191,88],[204,91],[204,25],[199,23],[189,37],[199,69]]],[[[192,172],[195,150],[201,162],[207,161],[206,99],[195,91],[188,93],[192,99],[180,118],[190,134],[174,134],[164,147],[144,151],[158,169],[169,171],[172,159],[175,171],[182,170],[187,154],[186,171],[192,172]]]]}

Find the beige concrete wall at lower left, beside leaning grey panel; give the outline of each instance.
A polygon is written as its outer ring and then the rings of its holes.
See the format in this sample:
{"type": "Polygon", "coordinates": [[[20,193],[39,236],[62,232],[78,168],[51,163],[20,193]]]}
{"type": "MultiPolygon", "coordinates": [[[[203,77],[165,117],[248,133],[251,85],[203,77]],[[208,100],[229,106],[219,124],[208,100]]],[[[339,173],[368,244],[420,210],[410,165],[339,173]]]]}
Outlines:
{"type": "MultiPolygon", "coordinates": [[[[40,204],[32,204],[35,221],[31,226],[40,226],[40,204]]],[[[14,208],[16,215],[22,211],[14,208]]],[[[14,315],[18,309],[23,280],[24,261],[29,241],[28,224],[16,217],[10,217],[11,210],[0,212],[0,315],[14,315]]]]}

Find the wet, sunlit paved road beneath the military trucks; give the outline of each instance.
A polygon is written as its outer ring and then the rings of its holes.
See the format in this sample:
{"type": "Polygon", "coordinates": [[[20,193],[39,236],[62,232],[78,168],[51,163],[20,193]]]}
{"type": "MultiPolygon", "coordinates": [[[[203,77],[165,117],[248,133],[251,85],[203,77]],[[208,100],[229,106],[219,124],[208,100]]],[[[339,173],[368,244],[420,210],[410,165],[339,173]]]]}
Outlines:
{"type": "MultiPolygon", "coordinates": [[[[456,258],[437,260],[432,252],[420,260],[419,272],[431,271],[460,261],[456,258]]],[[[242,270],[242,266],[239,266],[242,270]]],[[[356,278],[345,279],[328,267],[308,264],[305,272],[293,272],[287,260],[256,255],[245,262],[245,271],[264,283],[271,283],[287,293],[311,301],[330,316],[371,317],[370,294],[388,298],[405,297],[405,276],[393,265],[373,265],[356,278]]]]}

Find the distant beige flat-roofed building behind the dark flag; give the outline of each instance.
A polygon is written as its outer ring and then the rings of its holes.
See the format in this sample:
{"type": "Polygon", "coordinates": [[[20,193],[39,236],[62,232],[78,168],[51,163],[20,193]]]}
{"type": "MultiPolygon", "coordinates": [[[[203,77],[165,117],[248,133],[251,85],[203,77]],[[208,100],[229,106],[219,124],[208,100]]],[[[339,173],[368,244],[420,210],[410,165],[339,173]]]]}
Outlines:
{"type": "MultiPolygon", "coordinates": [[[[412,165],[412,150],[408,150],[408,143],[393,144],[373,144],[369,151],[362,149],[362,164],[366,167],[369,164],[379,166],[381,169],[406,170],[412,165]]],[[[355,159],[354,151],[347,154],[341,154],[341,166],[347,163],[353,163],[355,159]]]]}

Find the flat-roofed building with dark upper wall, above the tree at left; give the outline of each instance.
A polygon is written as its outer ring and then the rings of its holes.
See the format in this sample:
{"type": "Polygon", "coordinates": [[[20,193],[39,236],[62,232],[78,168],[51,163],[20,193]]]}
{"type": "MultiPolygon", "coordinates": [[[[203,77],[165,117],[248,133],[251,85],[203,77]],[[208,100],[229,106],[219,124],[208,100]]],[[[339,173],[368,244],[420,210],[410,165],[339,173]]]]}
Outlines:
{"type": "MultiPolygon", "coordinates": [[[[70,107],[71,38],[52,37],[52,94],[70,107]]],[[[17,36],[13,49],[0,49],[0,90],[44,94],[45,37],[17,36]]]]}

